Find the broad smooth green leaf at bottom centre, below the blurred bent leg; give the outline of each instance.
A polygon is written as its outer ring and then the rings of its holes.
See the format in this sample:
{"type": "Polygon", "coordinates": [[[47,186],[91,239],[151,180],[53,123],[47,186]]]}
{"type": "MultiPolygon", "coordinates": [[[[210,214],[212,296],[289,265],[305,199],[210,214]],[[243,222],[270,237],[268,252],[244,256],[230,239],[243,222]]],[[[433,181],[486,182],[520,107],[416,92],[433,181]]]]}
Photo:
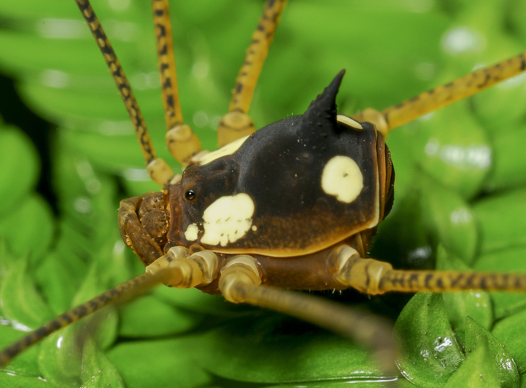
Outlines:
{"type": "Polygon", "coordinates": [[[240,321],[188,341],[201,367],[231,380],[284,383],[345,377],[358,381],[381,375],[368,351],[279,315],[240,321]]]}

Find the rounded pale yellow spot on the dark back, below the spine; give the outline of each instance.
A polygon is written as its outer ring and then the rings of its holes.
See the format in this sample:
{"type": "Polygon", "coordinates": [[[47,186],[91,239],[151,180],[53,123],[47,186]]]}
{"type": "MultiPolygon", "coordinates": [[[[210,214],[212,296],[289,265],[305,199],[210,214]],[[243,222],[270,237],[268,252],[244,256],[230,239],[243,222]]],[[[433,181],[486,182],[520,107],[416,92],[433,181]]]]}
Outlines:
{"type": "Polygon", "coordinates": [[[354,160],[338,155],[330,159],[321,173],[321,188],[340,202],[351,203],[363,189],[363,176],[354,160]]]}

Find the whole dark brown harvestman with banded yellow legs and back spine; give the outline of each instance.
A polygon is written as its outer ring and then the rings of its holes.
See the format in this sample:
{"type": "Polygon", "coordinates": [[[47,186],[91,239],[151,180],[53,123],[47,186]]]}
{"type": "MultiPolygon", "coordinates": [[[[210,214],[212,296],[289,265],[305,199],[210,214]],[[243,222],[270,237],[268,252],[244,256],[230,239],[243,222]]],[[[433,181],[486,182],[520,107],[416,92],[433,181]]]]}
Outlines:
{"type": "MultiPolygon", "coordinates": [[[[286,3],[269,1],[239,72],[229,113],[219,124],[218,143],[223,148],[207,153],[200,150],[199,140],[190,127],[183,124],[177,96],[168,5],[165,0],[154,0],[167,145],[171,154],[187,167],[181,177],[174,176],[166,162],[156,157],[135,97],[102,26],[87,0],[76,2],[114,76],[135,127],[148,172],[164,190],[153,195],[123,200],[119,209],[123,240],[145,264],[146,273],[118,285],[29,333],[0,353],[0,365],[5,365],[19,352],[46,335],[115,302],[124,295],[137,293],[163,282],[173,287],[197,287],[209,293],[220,292],[234,303],[250,303],[315,323],[369,346],[375,351],[383,370],[393,373],[395,346],[385,322],[371,314],[358,312],[331,301],[271,286],[290,289],[353,287],[368,294],[389,291],[526,290],[526,275],[402,271],[392,269],[389,263],[366,258],[376,225],[387,215],[392,200],[394,175],[389,150],[383,138],[393,128],[519,74],[526,68],[525,54],[459,78],[382,112],[366,109],[352,118],[336,113],[335,98],[343,77],[342,72],[316,101],[313,101],[305,115],[278,121],[252,135],[255,128],[247,111],[280,13],[286,3]],[[314,201],[315,205],[301,215],[304,217],[302,221],[309,220],[316,226],[312,227],[313,232],[308,238],[295,234],[297,230],[291,219],[279,219],[272,213],[272,209],[261,211],[264,216],[259,219],[258,211],[266,209],[265,205],[259,202],[263,199],[258,201],[253,197],[254,193],[251,196],[240,191],[239,187],[249,186],[254,180],[258,182],[258,174],[255,171],[265,172],[264,168],[268,166],[258,164],[253,170],[243,167],[241,169],[244,169],[245,175],[239,172],[234,179],[223,174],[221,179],[213,182],[219,186],[211,185],[214,174],[228,170],[225,166],[234,162],[239,166],[252,165],[249,156],[257,155],[261,150],[274,152],[275,149],[279,149],[279,145],[285,141],[280,137],[282,134],[286,133],[289,140],[296,136],[299,143],[303,138],[298,136],[307,133],[306,128],[312,127],[321,128],[321,131],[332,131],[338,136],[352,134],[351,137],[359,138],[368,134],[368,145],[363,150],[360,149],[360,153],[372,155],[374,160],[368,159],[367,162],[372,163],[373,168],[367,172],[363,169],[366,161],[340,155],[345,154],[347,150],[342,151],[339,146],[336,150],[331,148],[332,153],[329,152],[330,155],[317,166],[317,180],[313,179],[316,183],[312,187],[321,192],[323,200],[314,201]],[[294,131],[295,128],[299,128],[297,132],[294,131]],[[275,149],[270,148],[271,144],[275,149]],[[376,153],[373,154],[373,151],[376,153]],[[373,175],[370,175],[371,171],[374,172],[373,175]],[[338,185],[333,184],[335,180],[338,181],[338,185]],[[219,192],[214,191],[217,187],[219,192]],[[342,190],[341,187],[345,189],[342,190]],[[366,210],[349,210],[349,214],[353,211],[356,213],[356,219],[349,221],[347,232],[338,228],[339,223],[330,229],[323,229],[323,222],[326,220],[319,209],[335,212],[331,214],[332,218],[338,209],[352,208],[367,188],[376,195],[367,199],[369,202],[364,200],[364,203],[370,205],[370,209],[367,210],[369,213],[366,210]],[[210,193],[204,195],[203,192],[207,190],[210,193]],[[204,203],[201,203],[201,207],[195,206],[199,200],[204,203]],[[333,205],[334,203],[336,205],[333,205]],[[225,208],[234,210],[225,213],[225,208]],[[238,212],[239,209],[242,209],[241,213],[238,212]],[[236,218],[237,223],[234,227],[219,225],[230,218],[236,218]],[[174,222],[176,219],[179,223],[174,222]],[[215,219],[221,222],[214,221],[215,219]],[[316,221],[319,219],[323,219],[323,222],[316,221]],[[359,223],[357,219],[362,222],[359,223]],[[240,236],[234,236],[238,233],[240,236]],[[278,270],[281,272],[278,273],[278,270]],[[307,279],[306,273],[316,273],[319,277],[307,279]],[[330,320],[327,320],[327,316],[331,317],[330,320]],[[368,330],[356,330],[357,327],[368,330]]],[[[312,133],[316,135],[316,132],[312,133]]],[[[330,136],[333,135],[329,134],[330,136]]],[[[305,141],[308,144],[308,141],[305,141]]],[[[332,145],[331,142],[329,146],[332,145]]],[[[325,152],[326,149],[321,151],[325,152]]],[[[312,155],[315,154],[307,154],[305,159],[312,155]]],[[[305,176],[311,177],[312,173],[311,170],[306,171],[305,176]]],[[[287,189],[290,187],[286,186],[287,189]]],[[[284,197],[288,194],[279,193],[284,197]]]]}

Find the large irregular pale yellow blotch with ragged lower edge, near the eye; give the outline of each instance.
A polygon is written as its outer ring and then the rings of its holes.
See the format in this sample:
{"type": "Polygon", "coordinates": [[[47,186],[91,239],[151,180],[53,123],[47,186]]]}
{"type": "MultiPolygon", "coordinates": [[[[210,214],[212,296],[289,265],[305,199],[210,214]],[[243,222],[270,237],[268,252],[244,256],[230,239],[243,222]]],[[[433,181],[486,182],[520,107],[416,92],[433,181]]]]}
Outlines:
{"type": "Polygon", "coordinates": [[[252,226],[254,209],[254,201],[246,193],[217,199],[203,213],[201,242],[224,247],[244,237],[252,226]]]}

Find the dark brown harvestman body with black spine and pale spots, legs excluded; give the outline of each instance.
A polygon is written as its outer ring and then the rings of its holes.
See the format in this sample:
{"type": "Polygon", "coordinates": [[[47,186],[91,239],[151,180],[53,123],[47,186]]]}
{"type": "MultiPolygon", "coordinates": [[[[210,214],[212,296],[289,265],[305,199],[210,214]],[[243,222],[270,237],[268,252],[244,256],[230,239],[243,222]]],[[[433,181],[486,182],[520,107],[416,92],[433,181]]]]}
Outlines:
{"type": "MultiPolygon", "coordinates": [[[[337,114],[342,77],[304,115],[205,154],[163,192],[122,201],[127,246],[145,265],[183,246],[218,253],[220,268],[229,257],[250,254],[264,284],[347,288],[333,278],[338,263],[330,253],[346,243],[366,256],[392,206],[395,173],[375,126],[337,114]]],[[[199,288],[220,292],[218,279],[199,288]]]]}

